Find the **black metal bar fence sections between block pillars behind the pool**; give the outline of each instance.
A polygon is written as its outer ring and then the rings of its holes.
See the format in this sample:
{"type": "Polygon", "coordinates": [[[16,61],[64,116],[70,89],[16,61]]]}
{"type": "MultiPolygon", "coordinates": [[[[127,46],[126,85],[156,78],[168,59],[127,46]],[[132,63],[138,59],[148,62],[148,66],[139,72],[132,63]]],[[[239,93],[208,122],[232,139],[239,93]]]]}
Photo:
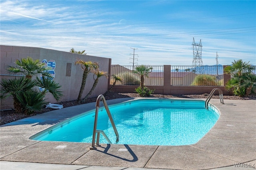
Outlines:
{"type": "MultiPolygon", "coordinates": [[[[111,75],[122,79],[116,85],[140,85],[140,75],[133,70],[138,66],[112,65],[111,75]]],[[[145,85],[164,85],[164,66],[150,66],[152,70],[144,76],[145,85]]],[[[170,85],[177,86],[224,86],[223,66],[171,66],[170,85]]],[[[111,77],[110,84],[115,79],[111,77]]]]}

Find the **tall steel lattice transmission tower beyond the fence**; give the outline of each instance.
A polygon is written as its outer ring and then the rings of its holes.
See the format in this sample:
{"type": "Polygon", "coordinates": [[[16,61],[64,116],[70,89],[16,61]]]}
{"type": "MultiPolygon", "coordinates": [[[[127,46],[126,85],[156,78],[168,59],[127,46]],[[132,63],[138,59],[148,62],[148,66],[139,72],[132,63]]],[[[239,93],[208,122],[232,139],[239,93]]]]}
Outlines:
{"type": "Polygon", "coordinates": [[[204,66],[202,61],[202,43],[200,40],[200,43],[195,43],[195,40],[193,38],[193,63],[192,66],[195,68],[195,73],[197,74],[203,74],[204,73],[204,66]]]}

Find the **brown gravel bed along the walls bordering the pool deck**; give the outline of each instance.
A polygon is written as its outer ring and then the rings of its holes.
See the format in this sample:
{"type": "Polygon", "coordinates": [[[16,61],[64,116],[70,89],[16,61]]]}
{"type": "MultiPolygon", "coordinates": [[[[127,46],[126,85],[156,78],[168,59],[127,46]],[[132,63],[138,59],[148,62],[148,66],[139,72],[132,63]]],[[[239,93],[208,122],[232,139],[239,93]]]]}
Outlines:
{"type": "MultiPolygon", "coordinates": [[[[160,94],[153,94],[150,97],[158,97],[158,98],[207,98],[209,94],[204,93],[202,95],[160,95],[160,94]]],[[[138,95],[138,93],[116,93],[116,92],[109,92],[109,93],[105,93],[104,97],[106,100],[110,100],[110,99],[118,99],[118,98],[125,98],[125,97],[140,97],[138,95]]],[[[249,97],[238,97],[238,96],[223,96],[224,99],[229,99],[229,100],[256,100],[256,96],[249,96],[249,97]]],[[[93,98],[89,98],[87,99],[84,103],[92,103],[92,102],[96,102],[97,97],[93,97],[93,98]]],[[[214,95],[212,96],[212,99],[219,99],[219,95],[214,95]]],[[[63,107],[71,107],[71,106],[75,106],[75,105],[81,105],[84,103],[77,103],[75,100],[74,101],[65,101],[65,102],[60,102],[60,103],[56,103],[56,104],[60,104],[63,105],[63,107]]],[[[11,123],[13,121],[17,121],[19,119],[24,119],[26,117],[30,117],[30,116],[34,116],[34,115],[38,115],[41,113],[45,113],[48,111],[52,111],[54,109],[42,109],[41,111],[35,112],[32,115],[25,115],[22,113],[15,113],[14,110],[8,110],[8,111],[1,111],[0,112],[0,125],[4,125],[6,123],[11,123]]]]}

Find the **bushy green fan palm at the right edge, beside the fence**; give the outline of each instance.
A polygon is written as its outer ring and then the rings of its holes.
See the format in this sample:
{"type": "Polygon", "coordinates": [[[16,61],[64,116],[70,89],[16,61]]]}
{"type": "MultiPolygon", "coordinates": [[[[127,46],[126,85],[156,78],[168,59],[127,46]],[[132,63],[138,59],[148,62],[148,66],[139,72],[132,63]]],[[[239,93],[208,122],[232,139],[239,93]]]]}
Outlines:
{"type": "Polygon", "coordinates": [[[234,60],[232,65],[224,68],[224,72],[231,75],[231,79],[225,85],[226,90],[233,89],[234,95],[244,97],[250,95],[256,87],[256,75],[252,73],[255,70],[249,62],[243,62],[242,59],[234,60]]]}

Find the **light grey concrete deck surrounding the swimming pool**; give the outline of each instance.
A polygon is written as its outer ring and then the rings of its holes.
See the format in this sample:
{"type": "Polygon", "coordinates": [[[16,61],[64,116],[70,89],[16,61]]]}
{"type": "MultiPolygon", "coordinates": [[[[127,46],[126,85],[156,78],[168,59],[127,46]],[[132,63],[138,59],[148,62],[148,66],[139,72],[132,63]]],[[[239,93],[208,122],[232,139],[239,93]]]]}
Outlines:
{"type": "MultiPolygon", "coordinates": [[[[107,103],[112,105],[130,99],[108,100],[107,103]]],[[[95,109],[95,103],[21,119],[0,127],[0,169],[254,169],[256,100],[224,100],[224,103],[220,104],[219,99],[210,100],[220,111],[220,118],[200,141],[186,146],[102,144],[90,150],[91,143],[29,139],[52,125],[95,109]]]]}

